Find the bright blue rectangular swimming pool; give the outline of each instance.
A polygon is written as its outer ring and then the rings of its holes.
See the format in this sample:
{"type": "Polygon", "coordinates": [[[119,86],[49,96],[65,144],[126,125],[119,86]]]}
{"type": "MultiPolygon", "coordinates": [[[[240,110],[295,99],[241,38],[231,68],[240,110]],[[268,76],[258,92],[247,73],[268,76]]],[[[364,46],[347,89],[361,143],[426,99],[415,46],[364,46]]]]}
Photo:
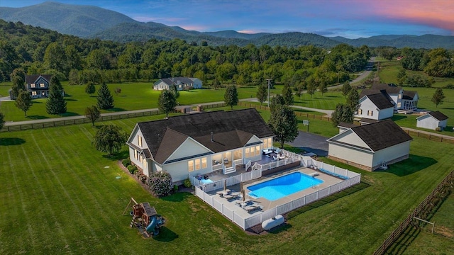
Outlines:
{"type": "Polygon", "coordinates": [[[274,201],[320,183],[323,183],[320,179],[296,172],[249,186],[250,192],[248,194],[255,198],[274,201]]]}

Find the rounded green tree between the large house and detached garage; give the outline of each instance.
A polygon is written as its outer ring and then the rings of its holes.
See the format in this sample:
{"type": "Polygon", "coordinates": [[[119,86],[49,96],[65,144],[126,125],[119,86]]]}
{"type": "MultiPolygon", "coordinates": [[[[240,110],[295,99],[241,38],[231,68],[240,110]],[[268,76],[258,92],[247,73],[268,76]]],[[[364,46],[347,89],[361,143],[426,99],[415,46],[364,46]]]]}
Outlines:
{"type": "Polygon", "coordinates": [[[271,112],[268,125],[275,133],[275,140],[284,149],[285,142],[293,142],[298,136],[297,115],[288,106],[277,105],[275,111],[271,112]]]}

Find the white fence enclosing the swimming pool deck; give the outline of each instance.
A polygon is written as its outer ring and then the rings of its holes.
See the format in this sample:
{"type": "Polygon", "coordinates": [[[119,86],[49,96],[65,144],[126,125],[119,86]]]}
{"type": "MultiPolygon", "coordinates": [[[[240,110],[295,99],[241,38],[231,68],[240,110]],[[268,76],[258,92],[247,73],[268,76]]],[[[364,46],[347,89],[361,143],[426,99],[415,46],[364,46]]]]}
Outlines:
{"type": "MultiPolygon", "coordinates": [[[[302,159],[302,158],[301,158],[302,159]]],[[[206,203],[211,205],[211,207],[215,208],[218,212],[221,212],[222,215],[226,216],[232,222],[235,222],[236,225],[240,226],[242,229],[248,229],[255,225],[259,225],[260,223],[264,222],[265,220],[271,219],[276,215],[282,215],[284,213],[290,212],[297,208],[300,208],[304,205],[312,203],[316,200],[320,200],[321,198],[325,198],[327,196],[331,196],[333,193],[337,193],[339,191],[343,191],[345,188],[349,188],[355,184],[360,183],[361,181],[361,174],[355,173],[353,171],[348,171],[346,169],[341,169],[336,166],[332,166],[330,164],[323,164],[323,162],[317,162],[314,159],[304,159],[304,164],[308,162],[311,165],[316,166],[323,166],[323,169],[330,169],[333,173],[342,176],[348,176],[348,179],[341,181],[340,183],[333,184],[323,189],[315,189],[313,193],[309,193],[306,196],[301,198],[297,198],[295,200],[291,200],[288,203],[284,203],[283,205],[278,205],[275,208],[271,208],[270,210],[266,210],[264,212],[259,212],[256,215],[253,215],[248,218],[243,218],[238,215],[234,210],[230,210],[223,206],[222,203],[215,200],[212,196],[207,194],[206,192],[214,191],[216,189],[223,188],[224,183],[227,186],[234,185],[236,183],[240,183],[242,181],[249,181],[251,179],[258,178],[262,176],[262,169],[258,169],[260,171],[250,171],[245,174],[240,174],[238,176],[232,176],[227,179],[223,179],[221,181],[216,181],[215,183],[209,183],[201,186],[196,186],[196,196],[204,200],[206,203]]],[[[255,164],[253,166],[256,166],[255,164]]],[[[198,181],[198,180],[197,180],[198,181]]]]}

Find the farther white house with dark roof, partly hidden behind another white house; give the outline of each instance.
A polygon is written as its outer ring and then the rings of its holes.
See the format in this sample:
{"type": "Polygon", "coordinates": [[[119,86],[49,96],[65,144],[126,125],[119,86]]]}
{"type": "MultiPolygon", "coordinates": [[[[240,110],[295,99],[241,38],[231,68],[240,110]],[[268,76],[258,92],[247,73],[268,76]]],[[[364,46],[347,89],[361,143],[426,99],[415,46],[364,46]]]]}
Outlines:
{"type": "Polygon", "coordinates": [[[378,93],[389,96],[395,111],[414,111],[418,108],[418,93],[416,91],[405,91],[394,84],[374,84],[370,89],[363,89],[360,98],[365,95],[378,93]]]}

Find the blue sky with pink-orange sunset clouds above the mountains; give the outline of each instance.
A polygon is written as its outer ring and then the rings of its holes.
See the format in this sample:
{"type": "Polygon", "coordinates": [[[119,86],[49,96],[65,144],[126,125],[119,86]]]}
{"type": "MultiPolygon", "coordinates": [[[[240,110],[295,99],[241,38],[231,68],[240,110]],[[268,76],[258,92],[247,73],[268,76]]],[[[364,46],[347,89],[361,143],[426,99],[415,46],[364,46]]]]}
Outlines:
{"type": "MultiPolygon", "coordinates": [[[[21,7],[43,0],[0,0],[21,7]]],[[[99,6],[137,21],[187,30],[242,33],[317,33],[345,38],[372,35],[454,35],[452,0],[60,0],[99,6]]]]}

